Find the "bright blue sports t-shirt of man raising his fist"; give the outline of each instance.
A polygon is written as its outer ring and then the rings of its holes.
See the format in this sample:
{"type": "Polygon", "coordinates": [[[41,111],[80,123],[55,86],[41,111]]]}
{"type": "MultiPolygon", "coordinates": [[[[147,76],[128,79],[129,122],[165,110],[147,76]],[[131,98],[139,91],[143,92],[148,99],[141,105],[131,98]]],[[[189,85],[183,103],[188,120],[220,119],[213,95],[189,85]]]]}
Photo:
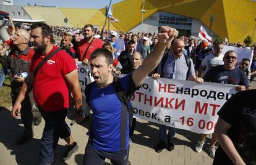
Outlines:
{"type": "MultiPolygon", "coordinates": [[[[127,90],[129,86],[130,96],[136,91],[131,76],[132,74],[127,74],[120,79],[124,90],[127,90]]],[[[94,83],[89,96],[93,111],[92,131],[90,132],[93,147],[108,152],[127,150],[129,147],[129,113],[117,97],[113,84],[98,89],[94,83]]]]}

